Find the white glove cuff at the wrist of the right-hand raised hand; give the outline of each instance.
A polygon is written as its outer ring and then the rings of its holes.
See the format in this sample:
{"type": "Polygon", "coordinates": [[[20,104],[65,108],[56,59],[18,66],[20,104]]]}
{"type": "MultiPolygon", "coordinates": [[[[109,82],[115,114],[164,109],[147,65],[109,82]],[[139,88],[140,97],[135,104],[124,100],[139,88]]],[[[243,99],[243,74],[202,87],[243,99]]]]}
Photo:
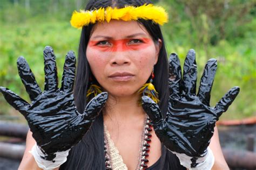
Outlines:
{"type": "Polygon", "coordinates": [[[176,153],[180,164],[191,170],[210,170],[214,164],[214,155],[210,147],[207,147],[207,152],[203,157],[189,157],[184,153],[176,153]]]}

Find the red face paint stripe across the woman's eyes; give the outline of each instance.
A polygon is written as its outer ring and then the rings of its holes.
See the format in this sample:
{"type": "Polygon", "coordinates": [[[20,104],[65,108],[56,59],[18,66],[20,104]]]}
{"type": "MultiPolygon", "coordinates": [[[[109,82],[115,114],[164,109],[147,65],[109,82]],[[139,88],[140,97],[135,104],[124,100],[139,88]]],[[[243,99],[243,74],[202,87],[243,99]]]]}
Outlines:
{"type": "Polygon", "coordinates": [[[142,42],[129,44],[131,40],[136,39],[103,40],[110,43],[109,45],[100,45],[98,44],[100,41],[90,40],[88,45],[103,52],[123,52],[144,49],[152,44],[152,40],[149,38],[140,38],[138,40],[142,42]]]}

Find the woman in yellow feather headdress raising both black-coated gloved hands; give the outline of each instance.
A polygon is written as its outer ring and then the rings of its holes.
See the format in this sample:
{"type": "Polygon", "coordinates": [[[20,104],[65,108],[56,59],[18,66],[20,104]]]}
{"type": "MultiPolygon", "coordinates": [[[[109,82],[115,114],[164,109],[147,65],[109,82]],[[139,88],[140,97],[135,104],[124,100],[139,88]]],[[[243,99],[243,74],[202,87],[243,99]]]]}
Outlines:
{"type": "Polygon", "coordinates": [[[31,103],[1,92],[30,126],[19,168],[228,169],[214,126],[239,88],[210,107],[211,59],[196,95],[196,54],[188,52],[181,76],[178,56],[167,61],[159,27],[166,22],[165,10],[147,0],[91,0],[71,18],[82,28],[76,80],[73,52],[58,88],[55,55],[45,47],[44,91],[18,58],[31,103]]]}

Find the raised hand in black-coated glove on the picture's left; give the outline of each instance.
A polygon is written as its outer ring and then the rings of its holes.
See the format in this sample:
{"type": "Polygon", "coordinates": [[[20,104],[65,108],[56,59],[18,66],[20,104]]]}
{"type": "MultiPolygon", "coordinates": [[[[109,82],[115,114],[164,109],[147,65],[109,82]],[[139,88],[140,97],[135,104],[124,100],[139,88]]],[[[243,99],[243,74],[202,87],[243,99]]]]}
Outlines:
{"type": "Polygon", "coordinates": [[[84,112],[77,111],[73,99],[76,57],[70,51],[66,55],[62,86],[58,88],[56,56],[53,49],[44,49],[45,86],[42,92],[26,60],[17,60],[18,73],[30,96],[31,104],[8,88],[0,87],[5,100],[28,121],[32,136],[41,150],[53,160],[55,152],[69,150],[89,130],[107,100],[107,93],[93,98],[84,112]]]}

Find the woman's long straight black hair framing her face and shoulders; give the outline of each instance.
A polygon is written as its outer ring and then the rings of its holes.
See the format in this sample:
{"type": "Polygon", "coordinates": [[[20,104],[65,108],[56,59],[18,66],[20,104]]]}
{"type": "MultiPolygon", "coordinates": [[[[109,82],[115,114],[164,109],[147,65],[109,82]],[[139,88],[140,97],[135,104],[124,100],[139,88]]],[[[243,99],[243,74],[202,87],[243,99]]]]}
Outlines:
{"type": "MultiPolygon", "coordinates": [[[[151,4],[151,1],[143,0],[90,0],[85,10],[94,10],[99,8],[107,8],[108,6],[124,8],[126,5],[141,6],[151,4]]],[[[165,116],[167,112],[167,102],[169,97],[168,90],[168,59],[165,49],[163,35],[158,24],[151,20],[139,19],[150,33],[152,39],[158,42],[161,39],[162,46],[159,51],[158,62],[154,66],[154,87],[159,93],[159,107],[165,116]]],[[[86,91],[90,86],[90,78],[92,77],[91,69],[86,58],[86,47],[90,39],[93,25],[84,26],[82,29],[80,44],[78,49],[78,66],[75,82],[74,96],[76,106],[79,112],[83,112],[86,107],[86,91]]],[[[93,80],[95,81],[95,80],[93,80]]],[[[160,158],[160,169],[177,169],[177,158],[171,152],[162,147],[160,158]]],[[[71,149],[68,160],[60,169],[105,169],[104,159],[104,133],[103,133],[103,115],[100,114],[96,121],[92,124],[90,130],[85,134],[83,139],[71,149]]]]}

